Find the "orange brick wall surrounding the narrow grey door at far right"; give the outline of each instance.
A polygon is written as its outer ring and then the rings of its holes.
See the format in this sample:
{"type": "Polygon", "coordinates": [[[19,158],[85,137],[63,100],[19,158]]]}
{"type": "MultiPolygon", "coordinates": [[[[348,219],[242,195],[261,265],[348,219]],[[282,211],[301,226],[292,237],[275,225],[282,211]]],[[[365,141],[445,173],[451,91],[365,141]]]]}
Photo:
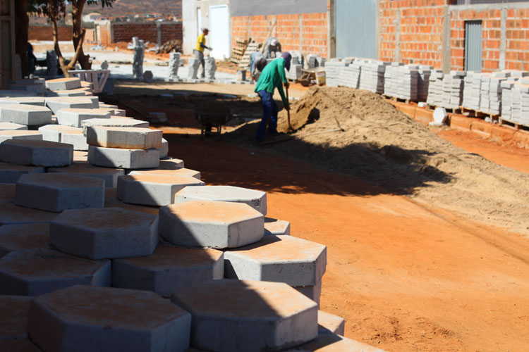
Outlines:
{"type": "MultiPolygon", "coordinates": [[[[463,70],[465,65],[466,20],[482,20],[482,70],[485,72],[499,70],[500,10],[451,11],[452,70],[463,70]]],[[[505,68],[529,70],[529,6],[507,10],[505,68]]]]}

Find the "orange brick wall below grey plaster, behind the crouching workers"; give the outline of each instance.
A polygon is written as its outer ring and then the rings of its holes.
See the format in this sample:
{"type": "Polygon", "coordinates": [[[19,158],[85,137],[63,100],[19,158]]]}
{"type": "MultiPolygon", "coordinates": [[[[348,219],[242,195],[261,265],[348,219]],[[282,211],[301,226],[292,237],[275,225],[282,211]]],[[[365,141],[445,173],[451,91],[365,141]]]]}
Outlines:
{"type": "Polygon", "coordinates": [[[238,38],[249,37],[256,42],[265,43],[274,20],[276,27],[272,36],[279,39],[282,50],[301,50],[305,55],[327,57],[327,13],[232,17],[232,44],[235,45],[238,38]]]}

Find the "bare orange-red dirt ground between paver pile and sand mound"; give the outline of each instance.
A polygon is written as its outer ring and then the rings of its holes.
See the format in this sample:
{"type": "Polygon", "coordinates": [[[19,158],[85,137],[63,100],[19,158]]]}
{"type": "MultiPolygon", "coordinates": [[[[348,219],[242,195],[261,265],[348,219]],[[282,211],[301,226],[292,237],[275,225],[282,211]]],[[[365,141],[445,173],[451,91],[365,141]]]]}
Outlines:
{"type": "Polygon", "coordinates": [[[170,133],[170,155],[205,182],[267,191],[270,217],[327,245],[321,308],[346,318],[347,337],[390,352],[528,350],[528,239],[262,149],[170,133]]]}

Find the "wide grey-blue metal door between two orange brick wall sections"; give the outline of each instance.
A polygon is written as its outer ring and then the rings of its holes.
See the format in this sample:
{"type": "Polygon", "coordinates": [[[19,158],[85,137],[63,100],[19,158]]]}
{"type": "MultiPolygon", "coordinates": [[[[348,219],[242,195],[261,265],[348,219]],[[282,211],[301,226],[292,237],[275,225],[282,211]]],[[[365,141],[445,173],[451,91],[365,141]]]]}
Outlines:
{"type": "Polygon", "coordinates": [[[377,58],[375,0],[336,0],[336,57],[377,58]]]}

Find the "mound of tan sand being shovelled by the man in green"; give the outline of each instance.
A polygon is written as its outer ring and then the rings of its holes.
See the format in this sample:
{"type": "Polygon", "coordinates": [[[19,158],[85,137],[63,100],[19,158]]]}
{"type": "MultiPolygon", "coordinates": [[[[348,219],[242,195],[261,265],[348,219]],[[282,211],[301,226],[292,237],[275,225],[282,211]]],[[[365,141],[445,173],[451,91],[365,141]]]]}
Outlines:
{"type": "MultiPolygon", "coordinates": [[[[283,111],[281,132],[286,120],[283,111]]],[[[529,175],[459,149],[377,94],[312,87],[293,104],[291,122],[294,138],[271,151],[529,234],[529,175]]]]}

